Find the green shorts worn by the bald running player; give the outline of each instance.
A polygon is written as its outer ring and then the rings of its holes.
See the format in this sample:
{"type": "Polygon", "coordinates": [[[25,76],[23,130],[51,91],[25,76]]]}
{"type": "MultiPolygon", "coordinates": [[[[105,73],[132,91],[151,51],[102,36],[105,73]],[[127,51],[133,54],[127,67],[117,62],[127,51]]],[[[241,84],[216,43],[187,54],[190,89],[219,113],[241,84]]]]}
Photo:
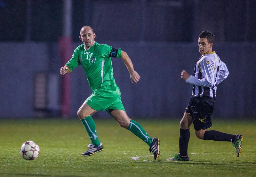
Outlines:
{"type": "Polygon", "coordinates": [[[121,91],[116,83],[107,87],[95,89],[85,102],[96,111],[108,111],[108,109],[125,111],[121,101],[121,91]]]}

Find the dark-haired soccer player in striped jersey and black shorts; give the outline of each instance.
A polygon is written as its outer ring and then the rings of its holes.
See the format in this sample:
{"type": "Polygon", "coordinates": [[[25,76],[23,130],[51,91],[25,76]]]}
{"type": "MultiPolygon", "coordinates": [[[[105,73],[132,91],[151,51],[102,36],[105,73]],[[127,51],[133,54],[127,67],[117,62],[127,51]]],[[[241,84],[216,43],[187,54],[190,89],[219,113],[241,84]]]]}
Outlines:
{"type": "Polygon", "coordinates": [[[212,51],[214,35],[203,31],[198,36],[199,52],[202,55],[196,62],[194,74],[181,72],[181,78],[193,85],[192,98],[180,121],[180,153],[167,161],[188,161],[189,127],[193,123],[196,137],[203,140],[231,142],[236,148],[237,157],[242,150],[243,135],[230,135],[215,130],[212,127],[211,115],[215,103],[217,85],[228,77],[228,68],[220,57],[212,51]]]}

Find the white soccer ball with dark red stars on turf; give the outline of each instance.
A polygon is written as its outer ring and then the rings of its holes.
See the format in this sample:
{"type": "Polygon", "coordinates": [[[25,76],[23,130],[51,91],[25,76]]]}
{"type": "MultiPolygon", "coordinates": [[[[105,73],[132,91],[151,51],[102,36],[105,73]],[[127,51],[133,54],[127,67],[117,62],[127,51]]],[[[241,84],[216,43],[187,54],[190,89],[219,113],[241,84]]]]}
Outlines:
{"type": "Polygon", "coordinates": [[[24,142],[20,148],[20,154],[26,160],[38,158],[40,153],[39,146],[33,141],[24,142]]]}

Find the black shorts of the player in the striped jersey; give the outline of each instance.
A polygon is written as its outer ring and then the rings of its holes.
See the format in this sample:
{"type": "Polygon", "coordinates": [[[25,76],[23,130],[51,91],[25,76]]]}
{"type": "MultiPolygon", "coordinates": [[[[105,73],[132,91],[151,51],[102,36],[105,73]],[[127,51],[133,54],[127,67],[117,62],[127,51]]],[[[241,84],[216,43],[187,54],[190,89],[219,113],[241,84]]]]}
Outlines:
{"type": "Polygon", "coordinates": [[[215,98],[192,96],[185,112],[192,117],[195,130],[212,127],[211,116],[214,104],[215,98]]]}

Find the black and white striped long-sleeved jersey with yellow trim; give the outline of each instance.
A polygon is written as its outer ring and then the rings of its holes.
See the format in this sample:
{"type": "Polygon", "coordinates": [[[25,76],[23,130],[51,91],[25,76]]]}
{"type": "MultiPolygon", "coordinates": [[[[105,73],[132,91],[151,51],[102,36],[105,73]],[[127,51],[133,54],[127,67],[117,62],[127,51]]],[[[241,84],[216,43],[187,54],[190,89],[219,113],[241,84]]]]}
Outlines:
{"type": "Polygon", "coordinates": [[[194,75],[187,83],[193,84],[192,96],[215,98],[217,85],[228,77],[226,64],[213,52],[207,52],[196,62],[194,75]]]}

